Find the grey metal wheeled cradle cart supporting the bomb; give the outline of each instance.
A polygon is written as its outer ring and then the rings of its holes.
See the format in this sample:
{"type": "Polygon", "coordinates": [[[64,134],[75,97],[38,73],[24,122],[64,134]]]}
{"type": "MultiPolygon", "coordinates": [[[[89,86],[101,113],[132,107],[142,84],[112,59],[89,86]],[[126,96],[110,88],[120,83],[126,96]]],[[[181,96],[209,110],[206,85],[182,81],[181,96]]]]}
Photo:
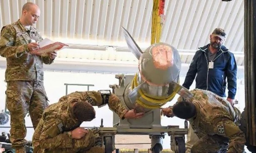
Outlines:
{"type": "MultiPolygon", "coordinates": [[[[119,79],[119,85],[110,85],[110,87],[113,88],[113,93],[121,99],[121,102],[129,110],[135,107],[135,104],[130,102],[127,96],[131,91],[129,88],[133,77],[133,75],[116,75],[116,78],[119,79]]],[[[151,139],[151,149],[153,149],[156,144],[159,144],[160,150],[162,150],[165,133],[168,133],[168,135],[171,135],[171,149],[177,151],[178,147],[175,138],[181,137],[185,140],[184,135],[188,133],[186,126],[185,128],[179,128],[179,126],[161,126],[160,109],[148,109],[148,112],[140,119],[120,120],[118,115],[113,113],[113,125],[114,128],[100,128],[102,137],[104,137],[103,135],[112,137],[113,149],[115,149],[115,134],[129,134],[149,135],[151,139]]]]}

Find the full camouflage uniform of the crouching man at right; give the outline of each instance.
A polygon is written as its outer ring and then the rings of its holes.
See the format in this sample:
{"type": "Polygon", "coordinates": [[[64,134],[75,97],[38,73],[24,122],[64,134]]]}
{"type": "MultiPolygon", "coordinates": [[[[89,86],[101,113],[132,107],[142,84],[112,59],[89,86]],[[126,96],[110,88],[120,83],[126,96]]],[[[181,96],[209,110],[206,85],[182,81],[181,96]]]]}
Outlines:
{"type": "Polygon", "coordinates": [[[239,110],[211,91],[195,89],[191,92],[194,94],[191,102],[197,112],[189,123],[199,137],[191,153],[217,153],[225,149],[228,153],[242,153],[245,135],[238,127],[239,110]]]}

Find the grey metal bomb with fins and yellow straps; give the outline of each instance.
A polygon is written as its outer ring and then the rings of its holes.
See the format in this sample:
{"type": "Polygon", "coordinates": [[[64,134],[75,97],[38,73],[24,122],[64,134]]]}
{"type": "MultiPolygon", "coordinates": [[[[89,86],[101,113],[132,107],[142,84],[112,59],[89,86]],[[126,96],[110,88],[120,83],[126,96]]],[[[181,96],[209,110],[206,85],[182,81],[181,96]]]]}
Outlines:
{"type": "Polygon", "coordinates": [[[130,51],[139,60],[138,72],[125,87],[124,103],[136,112],[148,112],[171,101],[176,93],[185,99],[193,94],[179,85],[181,60],[176,48],[167,43],[156,43],[144,52],[123,27],[130,51]]]}

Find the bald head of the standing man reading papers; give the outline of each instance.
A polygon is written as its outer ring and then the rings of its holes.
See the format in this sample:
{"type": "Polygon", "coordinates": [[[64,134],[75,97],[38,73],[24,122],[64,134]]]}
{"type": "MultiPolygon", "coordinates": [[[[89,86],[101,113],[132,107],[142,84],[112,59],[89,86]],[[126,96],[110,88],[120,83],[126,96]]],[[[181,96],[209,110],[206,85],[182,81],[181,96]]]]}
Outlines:
{"type": "Polygon", "coordinates": [[[20,18],[20,23],[25,26],[34,25],[36,24],[39,16],[39,7],[34,3],[28,2],[22,7],[22,16],[20,18]]]}

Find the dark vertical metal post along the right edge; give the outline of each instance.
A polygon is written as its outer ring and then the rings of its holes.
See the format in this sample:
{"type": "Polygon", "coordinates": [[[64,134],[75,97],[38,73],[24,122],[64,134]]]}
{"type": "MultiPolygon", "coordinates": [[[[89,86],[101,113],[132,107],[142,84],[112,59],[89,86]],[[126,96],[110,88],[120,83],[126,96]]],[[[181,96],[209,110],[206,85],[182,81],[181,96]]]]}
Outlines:
{"type": "Polygon", "coordinates": [[[247,143],[256,146],[256,1],[244,1],[245,120],[247,143]]]}

